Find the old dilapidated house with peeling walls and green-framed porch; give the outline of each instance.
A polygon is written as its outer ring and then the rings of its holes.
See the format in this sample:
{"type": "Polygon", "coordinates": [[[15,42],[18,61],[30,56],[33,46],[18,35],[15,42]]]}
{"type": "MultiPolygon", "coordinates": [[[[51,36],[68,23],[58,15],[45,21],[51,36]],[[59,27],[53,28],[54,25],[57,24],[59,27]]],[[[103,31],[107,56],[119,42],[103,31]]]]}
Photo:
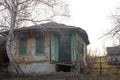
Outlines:
{"type": "MultiPolygon", "coordinates": [[[[15,30],[13,57],[27,73],[80,72],[86,66],[87,33],[54,22],[15,30]]],[[[12,66],[9,71],[14,72],[12,66]]]]}

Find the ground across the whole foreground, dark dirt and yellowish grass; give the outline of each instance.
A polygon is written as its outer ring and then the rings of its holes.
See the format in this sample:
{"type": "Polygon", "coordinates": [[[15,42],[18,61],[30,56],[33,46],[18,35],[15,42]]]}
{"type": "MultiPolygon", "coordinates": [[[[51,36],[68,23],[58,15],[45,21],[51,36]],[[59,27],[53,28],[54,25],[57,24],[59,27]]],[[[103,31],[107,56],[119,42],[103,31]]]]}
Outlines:
{"type": "MultiPolygon", "coordinates": [[[[99,67],[95,64],[95,68],[99,67]]],[[[120,68],[113,68],[108,64],[102,64],[102,72],[100,75],[100,69],[86,69],[84,74],[76,75],[71,72],[56,72],[46,75],[26,75],[24,77],[18,77],[12,73],[0,71],[0,80],[120,80],[120,68]],[[109,67],[108,69],[104,69],[109,67]]]]}

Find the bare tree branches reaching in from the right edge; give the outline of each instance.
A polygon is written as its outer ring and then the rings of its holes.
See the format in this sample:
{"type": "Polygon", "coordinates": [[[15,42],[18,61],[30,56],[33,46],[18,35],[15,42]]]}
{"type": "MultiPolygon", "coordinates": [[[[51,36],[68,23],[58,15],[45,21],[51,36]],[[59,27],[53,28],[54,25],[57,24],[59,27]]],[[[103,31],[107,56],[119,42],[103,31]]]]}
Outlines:
{"type": "Polygon", "coordinates": [[[106,32],[101,38],[106,39],[114,39],[114,41],[117,41],[117,45],[120,45],[120,8],[116,9],[115,14],[112,14],[110,17],[113,20],[113,27],[111,30],[106,32]]]}

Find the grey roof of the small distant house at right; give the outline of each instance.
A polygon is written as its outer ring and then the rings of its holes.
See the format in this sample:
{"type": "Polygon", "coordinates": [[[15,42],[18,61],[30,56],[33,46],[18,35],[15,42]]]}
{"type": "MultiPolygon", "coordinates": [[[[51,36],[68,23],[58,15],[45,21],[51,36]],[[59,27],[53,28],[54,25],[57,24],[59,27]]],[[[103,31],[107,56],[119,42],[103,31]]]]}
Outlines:
{"type": "Polygon", "coordinates": [[[120,55],[120,45],[114,47],[107,47],[108,55],[120,55]]]}

